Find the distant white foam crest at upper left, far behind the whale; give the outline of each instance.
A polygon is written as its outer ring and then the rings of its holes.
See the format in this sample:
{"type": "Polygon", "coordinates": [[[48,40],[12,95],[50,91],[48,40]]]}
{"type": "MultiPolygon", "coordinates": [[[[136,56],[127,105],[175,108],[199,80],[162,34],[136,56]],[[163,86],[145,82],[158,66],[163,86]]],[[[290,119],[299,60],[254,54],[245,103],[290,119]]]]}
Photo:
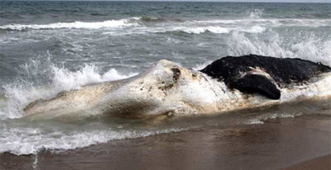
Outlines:
{"type": "Polygon", "coordinates": [[[11,29],[11,30],[23,30],[23,29],[57,29],[57,28],[109,28],[109,27],[123,27],[123,26],[135,26],[138,25],[137,17],[125,18],[119,20],[105,20],[98,22],[58,22],[50,24],[8,24],[2,25],[2,29],[11,29]]]}

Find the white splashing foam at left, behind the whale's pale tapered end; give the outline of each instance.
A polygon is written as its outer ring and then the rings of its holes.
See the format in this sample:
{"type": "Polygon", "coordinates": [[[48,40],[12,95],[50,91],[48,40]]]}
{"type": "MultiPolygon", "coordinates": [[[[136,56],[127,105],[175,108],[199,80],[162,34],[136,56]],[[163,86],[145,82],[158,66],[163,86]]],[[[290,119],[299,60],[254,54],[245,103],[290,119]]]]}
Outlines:
{"type": "MultiPolygon", "coordinates": [[[[84,65],[77,71],[58,67],[50,60],[50,55],[30,59],[21,65],[22,74],[29,79],[19,79],[4,85],[7,98],[6,106],[0,107],[1,118],[17,118],[23,115],[23,108],[36,99],[49,99],[63,90],[79,88],[82,85],[110,80],[123,79],[137,73],[122,74],[112,68],[100,73],[95,65],[84,65]],[[48,58],[42,59],[41,57],[48,58]],[[35,82],[49,76],[49,83],[35,82]]],[[[3,102],[4,103],[4,102],[3,102]]]]}

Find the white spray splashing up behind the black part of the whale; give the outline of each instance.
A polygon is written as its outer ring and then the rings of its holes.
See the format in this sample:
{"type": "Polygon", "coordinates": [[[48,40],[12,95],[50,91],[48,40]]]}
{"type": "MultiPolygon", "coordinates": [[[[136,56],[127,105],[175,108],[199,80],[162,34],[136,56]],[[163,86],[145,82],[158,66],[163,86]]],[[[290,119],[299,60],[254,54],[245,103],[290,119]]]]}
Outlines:
{"type": "MultiPolygon", "coordinates": [[[[259,28],[255,28],[259,29],[259,28]]],[[[292,39],[284,42],[283,37],[269,30],[267,40],[254,36],[248,37],[239,31],[233,31],[227,38],[229,55],[249,53],[275,57],[302,58],[331,65],[331,41],[311,35],[309,38],[292,39]],[[286,44],[289,44],[288,46],[286,44]]]]}

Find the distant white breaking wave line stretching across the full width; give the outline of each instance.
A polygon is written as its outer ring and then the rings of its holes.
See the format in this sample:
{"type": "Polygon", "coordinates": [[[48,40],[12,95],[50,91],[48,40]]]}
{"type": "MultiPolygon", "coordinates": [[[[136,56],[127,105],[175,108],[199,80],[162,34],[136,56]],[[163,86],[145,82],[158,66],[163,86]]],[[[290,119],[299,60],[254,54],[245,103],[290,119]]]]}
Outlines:
{"type": "Polygon", "coordinates": [[[243,19],[209,19],[209,20],[181,20],[179,18],[160,18],[160,17],[129,17],[118,20],[104,20],[95,22],[57,22],[49,24],[7,24],[0,25],[4,30],[29,30],[29,29],[99,29],[99,28],[118,28],[118,27],[139,27],[149,28],[151,32],[163,30],[181,30],[187,33],[202,33],[210,31],[213,33],[228,33],[230,30],[238,29],[234,26],[251,26],[251,30],[242,29],[247,32],[261,32],[265,26],[331,26],[331,19],[299,19],[299,18],[261,18],[260,10],[252,12],[249,17],[243,19]],[[253,26],[252,26],[253,25],[253,26]],[[259,28],[258,28],[259,27],[259,28]]]}

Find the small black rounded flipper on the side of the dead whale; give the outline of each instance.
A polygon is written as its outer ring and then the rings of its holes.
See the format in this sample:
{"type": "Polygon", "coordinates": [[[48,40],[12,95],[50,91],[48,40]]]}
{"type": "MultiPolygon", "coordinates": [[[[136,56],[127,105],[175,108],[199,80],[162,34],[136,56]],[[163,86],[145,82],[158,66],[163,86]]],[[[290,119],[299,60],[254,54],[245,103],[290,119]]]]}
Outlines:
{"type": "Polygon", "coordinates": [[[261,74],[246,74],[235,79],[231,86],[245,93],[259,93],[271,99],[280,98],[280,90],[269,77],[261,74]]]}

